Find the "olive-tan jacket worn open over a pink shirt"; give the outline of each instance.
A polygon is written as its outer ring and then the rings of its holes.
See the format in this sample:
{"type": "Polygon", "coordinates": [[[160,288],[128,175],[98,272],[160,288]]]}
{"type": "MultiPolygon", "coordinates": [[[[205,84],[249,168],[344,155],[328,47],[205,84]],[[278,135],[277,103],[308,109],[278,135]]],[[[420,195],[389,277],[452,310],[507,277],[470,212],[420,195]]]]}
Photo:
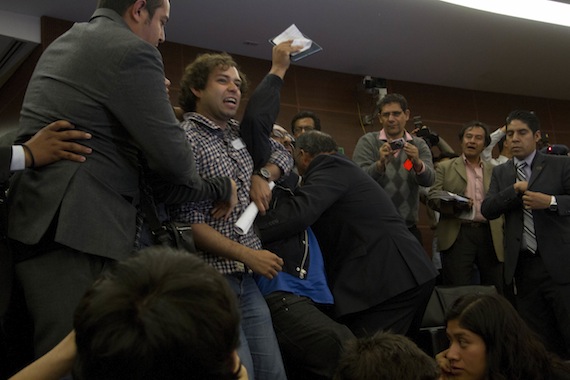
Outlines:
{"type": "MultiPolygon", "coordinates": [[[[489,190],[491,183],[491,173],[493,165],[483,162],[483,186],[485,191],[489,190]]],[[[435,183],[430,189],[428,195],[428,205],[436,211],[440,212],[440,219],[437,225],[437,245],[440,251],[445,251],[455,243],[459,229],[461,228],[461,220],[457,218],[450,210],[442,207],[440,199],[434,197],[437,192],[444,190],[455,194],[465,195],[467,188],[467,172],[463,157],[457,157],[448,161],[440,162],[435,172],[435,183]]],[[[504,260],[503,249],[503,218],[497,218],[489,221],[491,227],[491,235],[493,237],[493,247],[499,261],[504,260]]]]}

